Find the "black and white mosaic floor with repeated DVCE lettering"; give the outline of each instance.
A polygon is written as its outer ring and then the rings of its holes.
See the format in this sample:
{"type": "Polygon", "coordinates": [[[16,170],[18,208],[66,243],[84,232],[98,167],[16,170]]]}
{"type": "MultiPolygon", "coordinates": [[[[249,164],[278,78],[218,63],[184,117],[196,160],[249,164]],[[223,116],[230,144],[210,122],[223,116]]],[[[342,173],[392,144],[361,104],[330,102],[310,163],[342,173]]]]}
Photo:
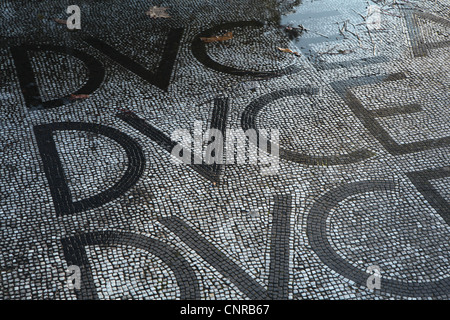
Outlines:
{"type": "Polygon", "coordinates": [[[450,297],[449,0],[0,8],[1,299],[450,297]],[[278,170],[175,163],[199,122],[278,170]]]}

